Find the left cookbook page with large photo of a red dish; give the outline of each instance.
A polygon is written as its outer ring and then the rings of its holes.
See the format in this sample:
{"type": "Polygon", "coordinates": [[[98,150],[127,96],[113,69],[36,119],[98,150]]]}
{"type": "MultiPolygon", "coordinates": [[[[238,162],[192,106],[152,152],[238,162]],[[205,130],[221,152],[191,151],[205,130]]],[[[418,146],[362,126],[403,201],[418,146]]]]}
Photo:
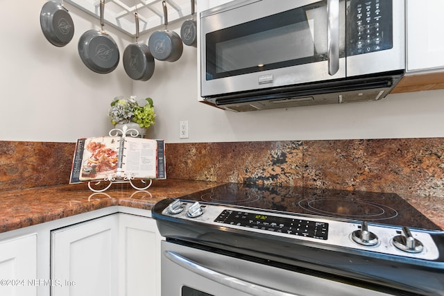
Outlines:
{"type": "Polygon", "coordinates": [[[117,172],[121,137],[85,139],[80,167],[80,181],[103,180],[117,172]]]}

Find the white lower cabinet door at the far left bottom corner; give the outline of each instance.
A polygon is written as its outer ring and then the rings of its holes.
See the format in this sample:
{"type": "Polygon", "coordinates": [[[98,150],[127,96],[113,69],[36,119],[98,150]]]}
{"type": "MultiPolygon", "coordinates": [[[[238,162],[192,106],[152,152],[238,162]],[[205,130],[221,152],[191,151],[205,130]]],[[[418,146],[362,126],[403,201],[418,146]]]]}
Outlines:
{"type": "Polygon", "coordinates": [[[0,241],[0,295],[37,295],[37,235],[0,241]]]}

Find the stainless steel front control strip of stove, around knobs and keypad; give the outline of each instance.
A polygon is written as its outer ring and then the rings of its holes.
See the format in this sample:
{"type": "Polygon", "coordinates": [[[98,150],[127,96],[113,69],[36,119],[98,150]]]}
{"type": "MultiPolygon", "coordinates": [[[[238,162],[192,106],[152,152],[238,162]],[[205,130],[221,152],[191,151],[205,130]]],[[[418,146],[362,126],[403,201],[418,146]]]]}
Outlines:
{"type": "MultiPolygon", "coordinates": [[[[238,225],[228,225],[223,223],[216,223],[214,220],[221,214],[223,210],[236,211],[235,209],[223,207],[219,205],[205,205],[205,211],[200,216],[191,218],[188,216],[189,208],[193,207],[194,209],[191,212],[194,212],[197,206],[194,206],[191,202],[182,202],[182,206],[185,207],[186,211],[182,211],[180,214],[170,214],[168,209],[164,209],[162,211],[162,215],[171,216],[178,219],[183,220],[193,220],[195,222],[205,223],[207,225],[213,225],[216,227],[226,227],[232,229],[246,230],[248,232],[257,232],[259,234],[273,234],[273,236],[280,236],[282,238],[296,238],[296,242],[301,242],[304,244],[314,244],[317,247],[331,247],[331,246],[340,246],[344,247],[347,250],[365,250],[369,252],[375,252],[375,254],[388,254],[388,255],[397,255],[404,256],[414,259],[424,259],[424,260],[436,260],[439,256],[438,247],[436,243],[433,241],[433,238],[427,233],[422,232],[420,229],[411,230],[412,237],[416,238],[416,240],[421,241],[423,245],[427,245],[427,248],[423,248],[422,252],[404,252],[399,250],[398,247],[395,247],[392,243],[393,237],[398,236],[398,232],[400,232],[400,227],[385,227],[382,225],[370,225],[371,232],[375,234],[379,238],[379,243],[373,246],[361,245],[356,243],[352,238],[352,233],[361,226],[359,223],[345,222],[340,220],[327,220],[324,218],[307,218],[294,216],[289,214],[274,214],[273,216],[278,217],[286,217],[286,218],[301,218],[308,221],[314,221],[317,223],[328,223],[329,231],[328,231],[328,239],[321,240],[317,238],[311,238],[306,236],[295,236],[294,234],[287,234],[284,232],[269,232],[266,229],[255,229],[252,227],[242,227],[238,225]]],[[[200,207],[200,205],[199,205],[200,207]]],[[[254,211],[249,209],[241,209],[239,211],[244,211],[246,213],[253,214],[263,214],[261,211],[254,211]]],[[[270,214],[271,215],[271,214],[270,214]]],[[[370,236],[371,238],[371,236],[370,236]]],[[[347,251],[348,252],[348,251],[347,251]]]]}

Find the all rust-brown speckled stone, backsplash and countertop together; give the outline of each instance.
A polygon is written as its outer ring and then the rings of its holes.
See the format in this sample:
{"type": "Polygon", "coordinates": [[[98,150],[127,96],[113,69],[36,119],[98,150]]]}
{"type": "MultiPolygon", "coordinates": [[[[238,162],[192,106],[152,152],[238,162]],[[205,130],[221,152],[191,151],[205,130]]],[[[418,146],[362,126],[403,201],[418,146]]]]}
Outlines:
{"type": "Polygon", "coordinates": [[[155,180],[153,200],[132,189],[92,200],[85,184],[54,186],[69,182],[74,147],[0,141],[0,231],[113,204],[151,209],[213,182],[397,193],[444,229],[444,138],[166,143],[168,180],[155,180]]]}

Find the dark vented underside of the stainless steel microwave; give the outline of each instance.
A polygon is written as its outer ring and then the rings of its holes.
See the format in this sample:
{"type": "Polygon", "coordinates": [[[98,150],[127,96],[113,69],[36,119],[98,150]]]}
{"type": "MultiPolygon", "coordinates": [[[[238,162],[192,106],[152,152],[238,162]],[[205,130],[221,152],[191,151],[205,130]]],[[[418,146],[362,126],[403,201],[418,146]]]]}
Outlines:
{"type": "Polygon", "coordinates": [[[404,71],[376,73],[344,80],[221,94],[205,98],[205,101],[234,112],[377,101],[387,96],[402,76],[404,71]]]}

